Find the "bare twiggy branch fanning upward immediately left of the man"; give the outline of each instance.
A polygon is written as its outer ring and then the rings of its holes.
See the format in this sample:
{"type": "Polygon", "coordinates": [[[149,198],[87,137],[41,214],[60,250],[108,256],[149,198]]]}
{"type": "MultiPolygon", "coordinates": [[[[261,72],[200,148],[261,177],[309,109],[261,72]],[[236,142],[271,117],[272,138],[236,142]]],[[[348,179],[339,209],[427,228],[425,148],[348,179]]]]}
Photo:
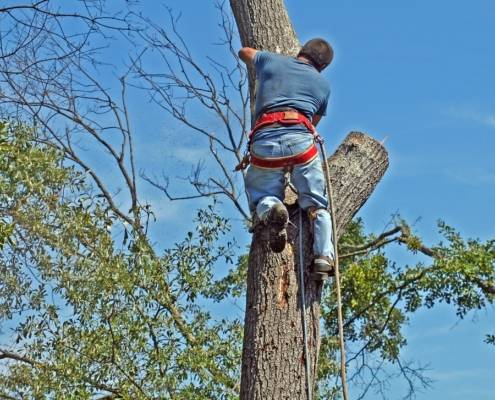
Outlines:
{"type": "MultiPolygon", "coordinates": [[[[232,168],[228,167],[227,161],[229,153],[233,155],[235,163],[243,158],[242,146],[246,140],[246,106],[248,102],[247,74],[234,50],[233,22],[227,16],[223,5],[218,4],[217,7],[221,11],[220,26],[225,35],[222,44],[228,47],[232,59],[235,60],[235,66],[233,69],[229,69],[208,58],[219,76],[221,84],[216,84],[212,74],[202,68],[193,58],[192,52],[177,29],[176,19],[170,11],[170,34],[161,25],[144,19],[145,23],[151,27],[151,31],[143,32],[141,35],[148,46],[160,56],[167,71],[165,73],[149,71],[140,58],[134,59],[133,65],[137,76],[147,83],[146,87],[142,86],[141,88],[149,92],[152,102],[191,128],[193,133],[198,133],[208,139],[210,154],[218,167],[218,174],[214,174],[215,177],[208,178],[204,182],[198,179],[198,176],[190,179],[191,185],[197,192],[195,195],[174,196],[169,192],[168,180],[166,180],[165,185],[157,184],[149,177],[147,177],[147,181],[162,190],[171,200],[224,194],[232,201],[241,215],[248,218],[249,213],[244,210],[239,201],[232,168]],[[235,76],[238,79],[235,79],[235,76]],[[241,100],[240,112],[234,108],[236,102],[232,101],[232,95],[236,94],[241,100]],[[196,122],[191,118],[192,114],[188,112],[188,108],[190,105],[198,103],[220,120],[222,130],[212,132],[211,129],[204,126],[204,123],[196,122]],[[239,133],[236,134],[235,132],[239,133]],[[223,154],[220,154],[217,148],[222,150],[223,154]],[[219,175],[222,178],[219,178],[219,175]]],[[[242,193],[243,196],[244,194],[242,193]]]]}

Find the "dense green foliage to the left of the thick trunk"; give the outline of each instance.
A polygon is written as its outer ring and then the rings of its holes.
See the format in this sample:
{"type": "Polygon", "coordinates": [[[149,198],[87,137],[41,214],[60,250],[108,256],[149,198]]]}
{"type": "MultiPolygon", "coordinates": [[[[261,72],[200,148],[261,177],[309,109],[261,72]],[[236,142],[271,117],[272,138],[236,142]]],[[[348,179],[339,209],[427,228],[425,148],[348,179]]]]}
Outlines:
{"type": "Polygon", "coordinates": [[[159,256],[136,232],[119,243],[105,201],[34,132],[2,124],[0,149],[0,319],[16,337],[0,394],[235,398],[241,325],[202,307],[232,254],[214,206],[159,256]]]}

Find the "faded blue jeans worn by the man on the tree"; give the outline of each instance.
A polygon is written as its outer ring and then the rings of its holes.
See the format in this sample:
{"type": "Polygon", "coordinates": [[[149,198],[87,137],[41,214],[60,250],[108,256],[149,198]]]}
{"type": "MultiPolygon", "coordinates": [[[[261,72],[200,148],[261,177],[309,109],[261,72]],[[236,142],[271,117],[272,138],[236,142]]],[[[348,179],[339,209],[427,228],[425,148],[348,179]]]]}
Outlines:
{"type": "MultiPolygon", "coordinates": [[[[251,151],[259,157],[284,157],[300,153],[313,144],[313,137],[307,131],[285,132],[277,137],[260,138],[251,145],[251,151]]],[[[291,182],[298,191],[299,206],[307,210],[314,207],[313,252],[315,255],[333,257],[332,221],[327,211],[325,177],[320,157],[295,166],[291,182]]],[[[263,220],[270,208],[282,203],[285,179],[283,169],[264,169],[249,166],[246,174],[246,191],[249,207],[263,220]]]]}

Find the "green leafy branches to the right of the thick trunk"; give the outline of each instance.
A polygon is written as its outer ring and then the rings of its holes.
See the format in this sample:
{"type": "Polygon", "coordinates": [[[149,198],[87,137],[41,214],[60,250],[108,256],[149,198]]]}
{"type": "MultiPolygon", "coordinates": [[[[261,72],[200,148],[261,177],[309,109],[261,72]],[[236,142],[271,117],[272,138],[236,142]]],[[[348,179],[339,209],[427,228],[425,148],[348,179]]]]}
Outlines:
{"type": "MultiPolygon", "coordinates": [[[[429,386],[424,367],[401,359],[401,349],[407,344],[402,329],[414,312],[444,302],[453,306],[459,318],[464,318],[495,300],[495,240],[464,240],[453,228],[439,222],[439,233],[445,242],[428,249],[411,234],[405,221],[400,223],[397,231],[401,235],[394,241],[404,243],[413,253],[422,251],[431,256],[431,264],[397,266],[380,243],[364,254],[342,260],[348,364],[352,367],[351,380],[362,386],[361,396],[370,389],[383,394],[394,376],[408,383],[408,398],[418,388],[429,386]],[[395,372],[391,372],[389,364],[397,367],[395,372]]],[[[366,237],[361,220],[353,221],[340,241],[341,254],[345,255],[346,249],[375,242],[375,236],[366,237]]],[[[324,334],[319,364],[322,399],[337,396],[335,304],[335,295],[327,287],[322,300],[324,334]]],[[[493,335],[488,335],[487,342],[493,343],[493,335]]]]}

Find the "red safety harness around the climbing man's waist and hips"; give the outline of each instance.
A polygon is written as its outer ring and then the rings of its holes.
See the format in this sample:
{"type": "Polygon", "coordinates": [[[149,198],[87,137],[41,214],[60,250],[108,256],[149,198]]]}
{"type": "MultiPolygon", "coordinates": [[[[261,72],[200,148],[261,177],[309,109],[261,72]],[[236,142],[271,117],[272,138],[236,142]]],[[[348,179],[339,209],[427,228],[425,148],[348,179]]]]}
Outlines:
{"type": "Polygon", "coordinates": [[[261,128],[274,124],[284,126],[304,125],[312,135],[317,135],[315,127],[309,119],[296,110],[264,113],[258,118],[253,130],[249,134],[248,154],[246,154],[241,163],[235,168],[236,171],[245,169],[249,164],[258,168],[287,168],[294,165],[306,164],[315,159],[318,155],[318,149],[314,143],[303,152],[286,157],[259,157],[253,153],[251,151],[251,143],[256,132],[261,128]]]}

